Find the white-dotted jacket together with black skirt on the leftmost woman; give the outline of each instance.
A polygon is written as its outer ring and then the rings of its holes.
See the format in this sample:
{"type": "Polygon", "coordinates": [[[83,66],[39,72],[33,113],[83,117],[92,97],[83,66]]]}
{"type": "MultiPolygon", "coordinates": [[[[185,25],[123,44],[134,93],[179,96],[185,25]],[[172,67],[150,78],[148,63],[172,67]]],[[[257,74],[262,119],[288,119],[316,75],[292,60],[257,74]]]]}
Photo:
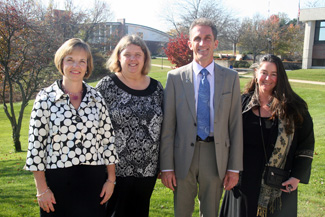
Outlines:
{"type": "Polygon", "coordinates": [[[105,216],[100,193],[106,166],[118,163],[114,131],[103,97],[83,83],[78,109],[61,88],[62,81],[41,90],[29,126],[25,169],[44,171],[56,204],[40,216],[105,216]]]}

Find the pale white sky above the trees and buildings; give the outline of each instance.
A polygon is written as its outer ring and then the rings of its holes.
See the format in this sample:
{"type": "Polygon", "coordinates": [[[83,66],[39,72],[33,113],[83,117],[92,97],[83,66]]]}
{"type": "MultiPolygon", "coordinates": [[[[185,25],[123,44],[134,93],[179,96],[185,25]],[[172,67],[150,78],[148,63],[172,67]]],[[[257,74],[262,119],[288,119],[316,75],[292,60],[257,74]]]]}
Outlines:
{"type": "MultiPolygon", "coordinates": [[[[46,0],[44,0],[46,1],[46,0]]],[[[89,7],[94,0],[74,0],[75,5],[89,7]]],[[[166,22],[166,11],[171,10],[177,0],[106,0],[114,13],[114,20],[125,18],[126,23],[149,26],[161,31],[168,31],[172,26],[166,22]]],[[[310,0],[300,0],[301,8],[310,0]]],[[[64,2],[64,0],[56,0],[64,2]]],[[[259,13],[264,17],[280,12],[290,19],[297,18],[299,0],[221,0],[236,18],[249,17],[259,13]]],[[[60,5],[60,3],[59,3],[60,5]]]]}

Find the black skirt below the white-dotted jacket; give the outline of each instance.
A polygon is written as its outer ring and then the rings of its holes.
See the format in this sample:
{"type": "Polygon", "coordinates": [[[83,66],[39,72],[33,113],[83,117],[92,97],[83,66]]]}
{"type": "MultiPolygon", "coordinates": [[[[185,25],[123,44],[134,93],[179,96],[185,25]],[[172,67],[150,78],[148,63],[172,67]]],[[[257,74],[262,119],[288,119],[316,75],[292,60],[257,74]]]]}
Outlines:
{"type": "Polygon", "coordinates": [[[102,217],[105,205],[100,205],[100,193],[107,179],[106,166],[78,165],[64,169],[49,169],[46,182],[56,204],[54,212],[41,209],[41,217],[102,217]]]}

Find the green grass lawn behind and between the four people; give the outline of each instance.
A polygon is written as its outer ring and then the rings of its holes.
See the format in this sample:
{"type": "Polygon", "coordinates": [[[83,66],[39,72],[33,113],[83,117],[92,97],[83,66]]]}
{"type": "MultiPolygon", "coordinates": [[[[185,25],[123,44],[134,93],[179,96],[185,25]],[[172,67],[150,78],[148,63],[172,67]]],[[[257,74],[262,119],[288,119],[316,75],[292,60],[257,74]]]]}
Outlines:
{"type": "MultiPolygon", "coordinates": [[[[166,72],[168,69],[152,67],[149,76],[158,79],[165,86],[166,72]]],[[[301,74],[307,74],[300,70],[300,79],[312,80],[312,76],[302,78],[301,74]]],[[[311,72],[320,73],[320,80],[324,81],[325,71],[311,72]],[[323,72],[323,75],[321,74],[323,72]]],[[[291,72],[289,78],[293,78],[291,72]]],[[[297,78],[295,78],[297,79],[297,78]]],[[[241,78],[241,87],[249,80],[241,78]]],[[[90,83],[96,85],[96,82],[90,83]]],[[[314,131],[316,139],[315,155],[313,161],[312,175],[308,185],[299,185],[299,217],[321,217],[324,216],[325,209],[325,86],[292,83],[294,90],[306,100],[309,112],[313,117],[314,131]]],[[[1,217],[28,217],[38,216],[39,208],[36,201],[36,190],[31,172],[23,170],[26,158],[28,141],[28,123],[33,101],[26,108],[24,122],[21,131],[21,142],[23,152],[16,153],[13,149],[11,139],[11,127],[4,114],[3,106],[0,106],[0,216],[1,217]]],[[[19,109],[19,103],[15,104],[19,109]]],[[[198,204],[196,204],[193,216],[198,216],[198,204]]],[[[158,180],[154,189],[150,216],[152,217],[172,217],[173,214],[173,194],[165,188],[158,180]]]]}

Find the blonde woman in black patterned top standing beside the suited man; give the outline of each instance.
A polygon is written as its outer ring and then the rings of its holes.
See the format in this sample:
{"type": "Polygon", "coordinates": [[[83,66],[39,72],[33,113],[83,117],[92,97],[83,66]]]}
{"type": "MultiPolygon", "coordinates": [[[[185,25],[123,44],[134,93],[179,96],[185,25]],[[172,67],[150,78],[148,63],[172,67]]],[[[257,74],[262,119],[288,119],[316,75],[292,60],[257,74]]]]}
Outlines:
{"type": "Polygon", "coordinates": [[[96,88],[109,108],[120,157],[107,216],[146,217],[159,171],[163,87],[147,75],[150,52],[138,36],[124,36],[107,64],[114,73],[96,88]]]}

